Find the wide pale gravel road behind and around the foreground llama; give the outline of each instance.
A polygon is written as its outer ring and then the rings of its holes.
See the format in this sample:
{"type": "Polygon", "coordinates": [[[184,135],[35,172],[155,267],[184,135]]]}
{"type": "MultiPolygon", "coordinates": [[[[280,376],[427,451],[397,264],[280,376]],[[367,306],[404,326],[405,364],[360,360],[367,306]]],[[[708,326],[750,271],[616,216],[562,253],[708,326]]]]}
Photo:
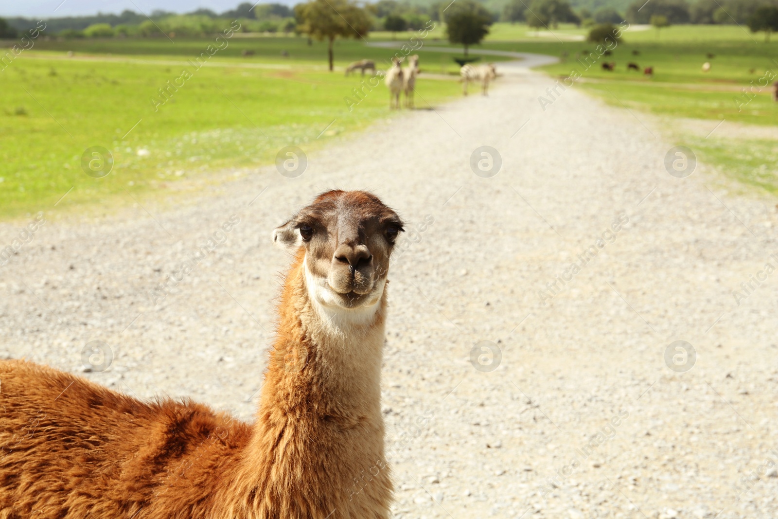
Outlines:
{"type": "Polygon", "coordinates": [[[541,110],[552,80],[500,67],[488,97],[391,114],[300,177],[48,219],[0,267],[0,357],[251,419],[288,263],[272,228],[370,189],[414,230],[390,276],[394,517],[778,517],[776,201],[668,174],[657,123],[575,89],[541,110]],[[471,167],[480,146],[499,170],[471,167]]]}

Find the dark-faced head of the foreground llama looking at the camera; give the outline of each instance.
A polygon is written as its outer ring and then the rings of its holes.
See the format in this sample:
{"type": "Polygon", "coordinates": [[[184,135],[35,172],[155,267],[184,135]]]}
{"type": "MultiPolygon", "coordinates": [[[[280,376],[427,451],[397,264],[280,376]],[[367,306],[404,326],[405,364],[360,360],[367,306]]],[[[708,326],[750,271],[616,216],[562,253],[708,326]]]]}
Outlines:
{"type": "Polygon", "coordinates": [[[394,240],[403,223],[366,191],[327,191],[273,231],[273,240],[305,258],[311,298],[330,310],[377,307],[394,240]]]}

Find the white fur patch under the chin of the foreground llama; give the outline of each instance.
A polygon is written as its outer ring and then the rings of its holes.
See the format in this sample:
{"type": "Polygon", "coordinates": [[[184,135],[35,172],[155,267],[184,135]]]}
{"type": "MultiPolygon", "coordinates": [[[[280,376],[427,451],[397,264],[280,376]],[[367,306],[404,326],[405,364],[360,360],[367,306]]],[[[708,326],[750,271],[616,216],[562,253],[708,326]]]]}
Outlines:
{"type": "Polygon", "coordinates": [[[308,270],[307,258],[303,259],[303,270],[308,298],[326,328],[345,331],[344,328],[369,327],[375,323],[381,297],[384,296],[386,278],[376,282],[366,304],[357,308],[345,308],[338,304],[340,297],[330,288],[327,279],[314,276],[308,270]]]}

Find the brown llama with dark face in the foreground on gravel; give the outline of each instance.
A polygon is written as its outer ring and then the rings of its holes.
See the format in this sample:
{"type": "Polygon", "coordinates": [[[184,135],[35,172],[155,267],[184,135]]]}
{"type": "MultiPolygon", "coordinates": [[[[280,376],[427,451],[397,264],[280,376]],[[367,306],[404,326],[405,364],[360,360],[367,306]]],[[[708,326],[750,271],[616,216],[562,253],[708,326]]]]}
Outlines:
{"type": "Polygon", "coordinates": [[[386,519],[380,370],[402,226],[375,195],[328,191],[274,231],[294,259],[254,424],[0,361],[0,517],[386,519]]]}

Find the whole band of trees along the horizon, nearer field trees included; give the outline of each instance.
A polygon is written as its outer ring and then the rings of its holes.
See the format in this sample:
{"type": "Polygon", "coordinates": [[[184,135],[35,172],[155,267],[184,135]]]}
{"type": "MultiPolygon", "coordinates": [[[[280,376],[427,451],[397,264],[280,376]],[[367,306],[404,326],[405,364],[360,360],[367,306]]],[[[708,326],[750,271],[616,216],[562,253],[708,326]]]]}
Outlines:
{"type": "MultiPolygon", "coordinates": [[[[772,32],[778,32],[778,0],[697,0],[690,6],[686,0],[654,0],[643,2],[636,0],[629,5],[626,16],[615,9],[598,9],[591,13],[587,9],[576,12],[567,0],[509,0],[502,13],[489,11],[478,0],[458,0],[450,2],[444,8],[443,2],[436,2],[429,8],[414,6],[409,2],[397,0],[379,0],[375,4],[360,5],[355,0],[310,0],[289,9],[282,4],[251,5],[242,3],[236,9],[217,15],[209,9],[198,9],[186,15],[156,11],[156,19],[145,19],[135,12],[124,11],[121,15],[98,15],[114,17],[112,21],[121,22],[111,25],[107,21],[97,21],[82,30],[60,29],[58,37],[154,37],[154,36],[199,36],[226,30],[231,20],[240,20],[243,32],[294,31],[306,34],[310,40],[327,41],[329,68],[334,68],[334,42],[338,38],[365,37],[371,30],[389,30],[394,33],[404,30],[426,30],[429,23],[439,21],[444,26],[448,40],[452,44],[464,47],[468,58],[468,47],[480,44],[489,33],[489,26],[496,20],[508,22],[525,21],[529,26],[550,29],[559,23],[575,23],[591,26],[590,40],[598,40],[602,35],[615,33],[613,23],[626,19],[629,23],[650,23],[660,29],[671,24],[692,23],[692,12],[697,23],[739,23],[735,15],[721,5],[738,5],[737,16],[746,17],[745,23],[753,32],[764,31],[766,40],[772,32]],[[728,3],[727,3],[728,2],[728,3]],[[692,9],[693,8],[693,9],[692,9]],[[752,9],[753,8],[753,9],[752,9]],[[426,9],[426,11],[424,10],[426,9]],[[691,9],[691,11],[690,11],[691,9]],[[723,14],[722,14],[723,13],[723,14]],[[422,25],[422,21],[426,23],[422,25]]],[[[95,17],[76,17],[68,19],[46,20],[44,37],[54,33],[54,28],[62,26],[62,20],[79,20],[79,23],[95,22],[95,17]],[[59,25],[58,25],[59,22],[59,25]]],[[[24,19],[23,19],[24,20],[24,19]]],[[[16,37],[19,19],[7,23],[0,19],[0,38],[16,37]],[[16,25],[15,25],[16,23],[16,25]]],[[[461,62],[471,61],[465,59],[461,62]]]]}

